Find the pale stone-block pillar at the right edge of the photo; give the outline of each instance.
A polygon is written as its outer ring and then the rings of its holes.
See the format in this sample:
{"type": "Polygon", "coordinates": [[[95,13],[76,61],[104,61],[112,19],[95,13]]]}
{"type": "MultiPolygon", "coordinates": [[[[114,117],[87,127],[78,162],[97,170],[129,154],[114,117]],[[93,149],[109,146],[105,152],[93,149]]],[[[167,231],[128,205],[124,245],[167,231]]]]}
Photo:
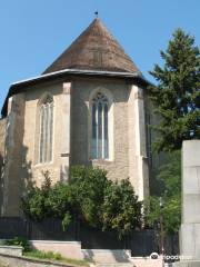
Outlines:
{"type": "MultiPolygon", "coordinates": [[[[200,260],[200,140],[182,146],[181,254],[200,260]]],[[[200,261],[199,261],[200,265],[200,261]]]]}

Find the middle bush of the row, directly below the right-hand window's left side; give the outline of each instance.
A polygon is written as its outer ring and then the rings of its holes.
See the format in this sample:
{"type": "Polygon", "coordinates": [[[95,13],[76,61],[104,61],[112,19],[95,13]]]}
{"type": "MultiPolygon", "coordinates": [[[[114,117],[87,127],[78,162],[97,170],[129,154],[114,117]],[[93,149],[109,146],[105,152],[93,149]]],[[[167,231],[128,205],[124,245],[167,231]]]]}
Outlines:
{"type": "Polygon", "coordinates": [[[109,184],[107,171],[102,169],[84,166],[72,167],[70,185],[77,212],[83,222],[93,227],[102,227],[103,194],[109,184]]]}

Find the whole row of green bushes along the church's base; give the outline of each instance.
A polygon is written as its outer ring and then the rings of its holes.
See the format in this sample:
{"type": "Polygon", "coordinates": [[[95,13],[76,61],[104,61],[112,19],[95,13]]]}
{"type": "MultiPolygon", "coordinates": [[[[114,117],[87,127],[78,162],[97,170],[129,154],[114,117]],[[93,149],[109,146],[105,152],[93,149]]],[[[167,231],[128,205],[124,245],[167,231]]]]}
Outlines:
{"type": "Polygon", "coordinates": [[[72,167],[70,182],[51,185],[49,174],[39,188],[32,186],[22,198],[24,214],[42,220],[60,218],[63,229],[76,216],[102,230],[114,230],[119,238],[141,226],[141,202],[128,179],[108,180],[107,172],[92,167],[72,167]]]}

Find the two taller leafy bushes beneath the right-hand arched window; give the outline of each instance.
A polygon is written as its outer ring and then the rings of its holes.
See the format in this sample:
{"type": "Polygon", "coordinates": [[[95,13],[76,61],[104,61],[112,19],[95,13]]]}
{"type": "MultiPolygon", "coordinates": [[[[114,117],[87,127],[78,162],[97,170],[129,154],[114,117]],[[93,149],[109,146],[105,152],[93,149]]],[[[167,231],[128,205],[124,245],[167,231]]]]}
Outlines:
{"type": "Polygon", "coordinates": [[[113,182],[102,169],[74,167],[70,184],[86,224],[114,230],[119,238],[141,227],[141,202],[129,179],[113,182]]]}

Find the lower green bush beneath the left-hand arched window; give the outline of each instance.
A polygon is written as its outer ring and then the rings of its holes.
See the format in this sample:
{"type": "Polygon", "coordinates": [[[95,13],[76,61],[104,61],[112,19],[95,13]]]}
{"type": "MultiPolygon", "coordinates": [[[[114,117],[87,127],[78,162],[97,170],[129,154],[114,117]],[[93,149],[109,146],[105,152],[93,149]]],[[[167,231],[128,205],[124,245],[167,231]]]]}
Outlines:
{"type": "Polygon", "coordinates": [[[61,218],[66,228],[71,221],[73,205],[70,187],[61,182],[52,186],[49,171],[43,172],[43,178],[41,187],[32,185],[22,197],[23,212],[38,221],[49,217],[61,218]]]}

